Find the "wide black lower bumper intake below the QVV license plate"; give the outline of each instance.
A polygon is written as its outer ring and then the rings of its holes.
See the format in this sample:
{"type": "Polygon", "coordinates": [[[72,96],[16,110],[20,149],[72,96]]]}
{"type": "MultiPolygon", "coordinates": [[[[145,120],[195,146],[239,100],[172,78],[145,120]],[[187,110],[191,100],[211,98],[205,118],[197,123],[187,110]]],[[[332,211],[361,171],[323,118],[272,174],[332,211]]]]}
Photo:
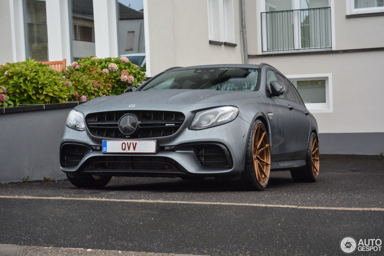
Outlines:
{"type": "Polygon", "coordinates": [[[177,163],[162,156],[100,156],[93,170],[179,170],[177,163]]]}

